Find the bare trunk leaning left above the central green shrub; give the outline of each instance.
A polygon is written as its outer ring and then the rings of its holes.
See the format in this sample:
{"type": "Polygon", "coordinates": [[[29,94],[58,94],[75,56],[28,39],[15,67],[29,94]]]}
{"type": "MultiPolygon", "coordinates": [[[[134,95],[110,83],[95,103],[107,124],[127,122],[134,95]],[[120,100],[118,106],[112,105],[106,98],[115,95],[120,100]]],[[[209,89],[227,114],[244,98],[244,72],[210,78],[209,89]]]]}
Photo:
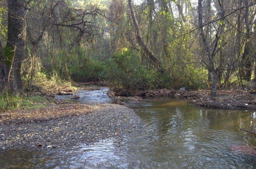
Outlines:
{"type": "Polygon", "coordinates": [[[149,56],[149,58],[154,62],[155,66],[157,67],[159,64],[159,60],[158,58],[156,58],[156,56],[154,56],[154,54],[147,48],[147,46],[144,44],[141,36],[140,36],[140,29],[134,14],[134,10],[132,7],[132,0],[128,0],[128,4],[129,4],[129,8],[132,14],[132,22],[134,24],[134,28],[135,28],[135,35],[136,35],[136,40],[138,42],[138,44],[142,47],[142,49],[144,50],[144,52],[149,56]]]}

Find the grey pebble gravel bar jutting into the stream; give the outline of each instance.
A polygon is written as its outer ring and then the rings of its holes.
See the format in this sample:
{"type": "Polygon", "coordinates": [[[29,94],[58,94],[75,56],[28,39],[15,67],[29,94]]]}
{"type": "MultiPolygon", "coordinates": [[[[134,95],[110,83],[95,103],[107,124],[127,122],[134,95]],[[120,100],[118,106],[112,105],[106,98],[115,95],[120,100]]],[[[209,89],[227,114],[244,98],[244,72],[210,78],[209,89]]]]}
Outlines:
{"type": "Polygon", "coordinates": [[[39,150],[122,139],[142,126],[140,117],[128,107],[104,103],[88,108],[91,113],[80,111],[78,116],[73,113],[70,117],[36,123],[0,123],[0,149],[39,150]]]}

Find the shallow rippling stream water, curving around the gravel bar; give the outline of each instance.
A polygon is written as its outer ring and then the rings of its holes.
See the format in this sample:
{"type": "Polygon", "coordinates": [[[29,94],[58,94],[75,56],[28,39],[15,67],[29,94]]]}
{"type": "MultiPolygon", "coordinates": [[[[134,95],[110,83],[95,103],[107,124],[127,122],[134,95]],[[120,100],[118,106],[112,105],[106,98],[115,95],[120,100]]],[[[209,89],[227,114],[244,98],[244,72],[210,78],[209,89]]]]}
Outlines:
{"type": "MultiPolygon", "coordinates": [[[[106,87],[79,90],[84,103],[110,102],[106,87]]],[[[69,99],[70,96],[58,96],[69,99]]],[[[6,151],[7,167],[49,169],[254,169],[256,156],[232,151],[245,145],[239,128],[254,127],[253,110],[207,109],[184,99],[147,98],[128,106],[142,118],[138,133],[124,141],[102,140],[47,151],[6,151]]]]}

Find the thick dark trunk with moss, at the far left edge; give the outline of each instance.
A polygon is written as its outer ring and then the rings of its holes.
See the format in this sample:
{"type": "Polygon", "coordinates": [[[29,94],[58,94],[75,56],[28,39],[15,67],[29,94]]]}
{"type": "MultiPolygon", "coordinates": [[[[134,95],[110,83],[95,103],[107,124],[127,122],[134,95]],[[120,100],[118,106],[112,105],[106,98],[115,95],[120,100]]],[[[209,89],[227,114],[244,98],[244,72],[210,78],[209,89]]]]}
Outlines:
{"type": "MultiPolygon", "coordinates": [[[[14,95],[22,92],[20,75],[25,50],[24,0],[8,0],[8,34],[4,50],[4,79],[6,89],[14,95]]],[[[3,75],[3,74],[2,74],[3,75]]]]}

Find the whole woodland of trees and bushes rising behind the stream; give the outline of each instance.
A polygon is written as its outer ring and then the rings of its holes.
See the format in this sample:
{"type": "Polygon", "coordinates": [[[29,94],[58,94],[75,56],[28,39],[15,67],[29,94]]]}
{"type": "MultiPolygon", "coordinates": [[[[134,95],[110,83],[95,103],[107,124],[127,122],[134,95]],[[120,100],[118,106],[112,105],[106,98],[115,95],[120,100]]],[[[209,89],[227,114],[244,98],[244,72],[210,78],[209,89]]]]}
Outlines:
{"type": "Polygon", "coordinates": [[[113,87],[118,76],[125,82],[118,85],[120,90],[141,84],[175,89],[211,86],[214,96],[216,89],[248,88],[251,80],[255,82],[254,3],[4,1],[0,4],[1,91],[4,86],[11,93],[23,91],[22,81],[31,91],[42,74],[77,82],[106,80],[113,87]],[[15,54],[13,62],[8,54],[15,54]],[[136,63],[130,64],[129,57],[136,63]],[[113,74],[114,69],[120,74],[113,74]]]}

